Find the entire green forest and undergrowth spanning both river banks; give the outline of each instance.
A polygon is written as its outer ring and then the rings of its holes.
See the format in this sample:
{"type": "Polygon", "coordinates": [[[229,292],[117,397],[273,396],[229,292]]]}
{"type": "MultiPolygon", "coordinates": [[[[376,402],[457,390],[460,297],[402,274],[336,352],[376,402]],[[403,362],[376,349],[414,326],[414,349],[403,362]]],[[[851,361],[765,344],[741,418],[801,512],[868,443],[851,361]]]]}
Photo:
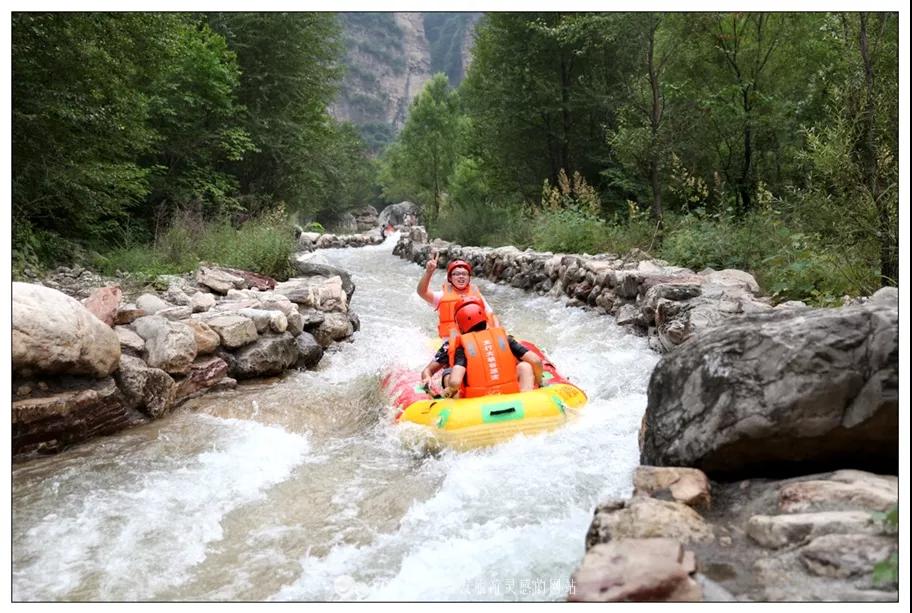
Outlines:
{"type": "Polygon", "coordinates": [[[14,272],[186,267],[190,220],[239,241],[382,198],[462,243],[638,248],[780,299],[898,282],[896,14],[490,13],[454,89],[475,19],[425,16],[441,74],[390,143],[327,112],[346,53],[406,69],[390,13],[14,13],[14,272]]]}

